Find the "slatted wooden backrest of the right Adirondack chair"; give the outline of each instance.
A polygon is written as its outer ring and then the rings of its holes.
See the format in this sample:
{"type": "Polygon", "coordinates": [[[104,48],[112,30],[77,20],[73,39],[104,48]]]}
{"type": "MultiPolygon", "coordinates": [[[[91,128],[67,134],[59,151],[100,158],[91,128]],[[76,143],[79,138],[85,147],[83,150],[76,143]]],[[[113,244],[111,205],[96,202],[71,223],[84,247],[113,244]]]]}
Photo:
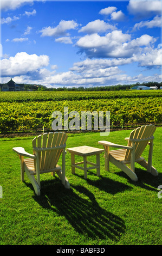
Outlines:
{"type": "MultiPolygon", "coordinates": [[[[139,159],[148,142],[154,139],[153,133],[155,129],[156,127],[154,125],[143,125],[130,133],[127,145],[132,147],[134,143],[136,160],[139,159]]],[[[129,161],[130,159],[131,150],[126,150],[125,160],[129,161]]]]}

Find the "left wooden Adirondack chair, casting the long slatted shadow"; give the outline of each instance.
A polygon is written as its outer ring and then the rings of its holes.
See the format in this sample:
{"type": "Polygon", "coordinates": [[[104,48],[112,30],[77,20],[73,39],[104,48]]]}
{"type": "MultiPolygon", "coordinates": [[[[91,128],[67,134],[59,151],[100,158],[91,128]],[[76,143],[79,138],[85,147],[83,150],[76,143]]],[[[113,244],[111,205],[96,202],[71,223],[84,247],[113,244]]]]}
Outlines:
{"type": "Polygon", "coordinates": [[[21,160],[21,180],[24,181],[25,172],[34,187],[37,196],[40,196],[41,193],[41,173],[51,172],[54,176],[56,172],[64,187],[70,187],[65,176],[65,148],[67,137],[68,136],[63,132],[49,132],[39,135],[33,139],[33,155],[27,153],[22,147],[13,148],[21,160]],[[57,165],[61,153],[62,170],[61,167],[57,165]],[[29,158],[24,159],[24,156],[29,158]],[[36,179],[34,175],[36,175],[36,179]]]}

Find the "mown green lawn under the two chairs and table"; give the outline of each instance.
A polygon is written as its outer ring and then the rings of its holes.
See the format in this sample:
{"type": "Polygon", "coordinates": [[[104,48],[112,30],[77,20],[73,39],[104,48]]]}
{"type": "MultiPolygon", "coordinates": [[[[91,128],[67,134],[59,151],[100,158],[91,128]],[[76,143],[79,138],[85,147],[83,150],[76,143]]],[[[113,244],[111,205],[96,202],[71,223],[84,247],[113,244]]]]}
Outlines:
{"type": "MultiPolygon", "coordinates": [[[[129,133],[114,131],[108,137],[100,137],[100,133],[69,135],[67,148],[102,148],[100,140],[126,145],[124,138],[129,133]]],[[[33,153],[33,138],[1,139],[0,245],[162,245],[162,198],[158,198],[157,189],[162,185],[161,127],[154,137],[152,164],[159,176],[152,176],[138,164],[137,182],[112,164],[111,171],[106,172],[102,153],[101,176],[97,177],[94,169],[85,180],[82,170],[71,173],[67,153],[70,190],[59,178],[42,174],[40,197],[35,196],[26,175],[25,182],[21,182],[20,160],[12,151],[13,147],[23,147],[33,153]]],[[[147,155],[148,149],[143,156],[147,155]]]]}

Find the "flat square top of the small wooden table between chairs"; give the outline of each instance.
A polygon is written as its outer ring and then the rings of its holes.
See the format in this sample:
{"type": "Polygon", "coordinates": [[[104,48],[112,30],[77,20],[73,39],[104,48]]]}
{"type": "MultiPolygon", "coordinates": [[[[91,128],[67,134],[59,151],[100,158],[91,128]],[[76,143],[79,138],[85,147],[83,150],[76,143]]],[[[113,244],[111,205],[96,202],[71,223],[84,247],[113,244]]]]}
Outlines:
{"type": "Polygon", "coordinates": [[[76,155],[88,156],[96,155],[104,152],[104,149],[89,147],[89,146],[80,146],[67,149],[69,153],[74,153],[76,155]]]}

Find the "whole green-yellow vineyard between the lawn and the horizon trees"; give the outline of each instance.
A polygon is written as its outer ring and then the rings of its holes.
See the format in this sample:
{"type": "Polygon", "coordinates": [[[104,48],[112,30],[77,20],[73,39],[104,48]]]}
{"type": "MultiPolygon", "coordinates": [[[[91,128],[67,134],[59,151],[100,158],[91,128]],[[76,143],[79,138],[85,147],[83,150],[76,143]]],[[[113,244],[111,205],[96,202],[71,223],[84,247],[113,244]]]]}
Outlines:
{"type": "MultiPolygon", "coordinates": [[[[54,111],[109,111],[111,128],[162,123],[162,90],[0,92],[0,131],[51,130],[54,111]]],[[[92,127],[93,128],[93,127],[92,127]]]]}

